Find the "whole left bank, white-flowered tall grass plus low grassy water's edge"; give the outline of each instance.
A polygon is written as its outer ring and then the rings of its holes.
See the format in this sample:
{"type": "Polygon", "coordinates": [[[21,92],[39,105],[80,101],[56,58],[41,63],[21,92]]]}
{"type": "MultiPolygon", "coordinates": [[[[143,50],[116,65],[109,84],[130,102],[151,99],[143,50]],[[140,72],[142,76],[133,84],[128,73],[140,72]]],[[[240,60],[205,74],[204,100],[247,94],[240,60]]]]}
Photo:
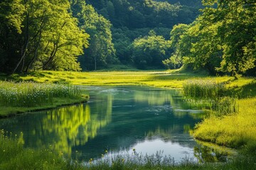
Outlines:
{"type": "Polygon", "coordinates": [[[0,81],[0,117],[85,101],[78,86],[0,81]]]}

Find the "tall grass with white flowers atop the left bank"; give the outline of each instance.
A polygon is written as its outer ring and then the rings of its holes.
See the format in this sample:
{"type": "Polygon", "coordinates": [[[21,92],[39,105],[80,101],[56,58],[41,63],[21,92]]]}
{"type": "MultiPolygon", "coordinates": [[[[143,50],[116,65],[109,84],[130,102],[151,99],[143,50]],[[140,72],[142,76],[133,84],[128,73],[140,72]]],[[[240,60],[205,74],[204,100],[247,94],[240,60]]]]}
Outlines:
{"type": "Polygon", "coordinates": [[[53,98],[78,98],[78,86],[0,81],[0,106],[33,107],[53,103],[53,98]]]}

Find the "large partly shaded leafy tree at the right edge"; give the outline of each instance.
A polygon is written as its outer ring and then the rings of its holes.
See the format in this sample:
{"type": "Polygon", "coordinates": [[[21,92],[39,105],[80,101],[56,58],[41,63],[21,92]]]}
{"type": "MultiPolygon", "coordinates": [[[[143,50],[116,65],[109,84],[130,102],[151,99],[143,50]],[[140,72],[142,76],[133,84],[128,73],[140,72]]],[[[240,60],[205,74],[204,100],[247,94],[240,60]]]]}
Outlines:
{"type": "Polygon", "coordinates": [[[256,2],[238,1],[203,1],[205,5],[217,5],[203,10],[201,22],[218,31],[222,51],[219,71],[232,74],[245,73],[255,67],[256,61],[256,2]]]}

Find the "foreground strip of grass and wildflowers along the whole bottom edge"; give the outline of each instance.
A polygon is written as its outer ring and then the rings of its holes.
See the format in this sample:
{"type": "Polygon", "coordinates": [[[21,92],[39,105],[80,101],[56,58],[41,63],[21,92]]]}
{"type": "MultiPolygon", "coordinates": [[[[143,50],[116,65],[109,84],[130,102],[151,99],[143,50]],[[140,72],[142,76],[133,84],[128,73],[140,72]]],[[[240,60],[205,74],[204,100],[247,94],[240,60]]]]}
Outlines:
{"type": "Polygon", "coordinates": [[[119,154],[114,157],[103,155],[97,161],[86,164],[78,163],[68,157],[63,158],[49,149],[28,149],[23,147],[23,136],[10,135],[0,130],[0,169],[255,169],[255,155],[239,156],[227,163],[191,162],[183,159],[176,164],[171,157],[162,157],[161,152],[142,156],[134,151],[132,154],[119,154]]]}

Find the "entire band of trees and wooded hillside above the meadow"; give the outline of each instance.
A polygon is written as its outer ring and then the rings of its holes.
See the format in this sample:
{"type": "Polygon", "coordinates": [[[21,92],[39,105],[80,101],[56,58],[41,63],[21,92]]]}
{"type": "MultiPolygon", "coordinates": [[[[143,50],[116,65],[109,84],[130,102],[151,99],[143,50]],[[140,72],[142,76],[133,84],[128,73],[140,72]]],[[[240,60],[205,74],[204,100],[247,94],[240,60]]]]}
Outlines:
{"type": "Polygon", "coordinates": [[[2,0],[0,72],[188,65],[255,75],[253,0],[2,0]]]}

